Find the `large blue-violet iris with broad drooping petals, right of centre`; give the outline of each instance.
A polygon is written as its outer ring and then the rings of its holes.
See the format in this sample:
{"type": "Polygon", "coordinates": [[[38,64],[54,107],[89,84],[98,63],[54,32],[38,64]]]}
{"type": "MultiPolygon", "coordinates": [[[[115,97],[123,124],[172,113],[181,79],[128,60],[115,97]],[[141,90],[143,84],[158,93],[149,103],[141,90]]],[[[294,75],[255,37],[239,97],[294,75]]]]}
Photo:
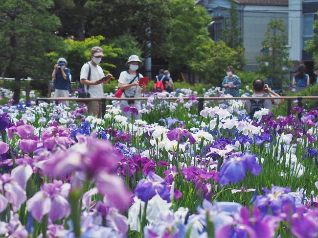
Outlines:
{"type": "Polygon", "coordinates": [[[222,185],[235,184],[245,178],[246,170],[249,170],[255,176],[262,171],[262,167],[256,162],[255,155],[230,157],[220,169],[220,183],[222,185]]]}

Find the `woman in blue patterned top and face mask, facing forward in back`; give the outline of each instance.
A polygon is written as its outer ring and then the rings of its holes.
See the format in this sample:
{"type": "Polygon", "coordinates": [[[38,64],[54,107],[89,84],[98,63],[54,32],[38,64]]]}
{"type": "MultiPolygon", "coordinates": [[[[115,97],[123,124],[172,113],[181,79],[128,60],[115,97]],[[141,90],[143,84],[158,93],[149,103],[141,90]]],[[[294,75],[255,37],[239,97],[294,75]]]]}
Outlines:
{"type": "Polygon", "coordinates": [[[232,66],[227,67],[227,76],[223,79],[222,87],[225,88],[226,94],[240,96],[241,79],[237,75],[234,75],[234,68],[232,66]]]}

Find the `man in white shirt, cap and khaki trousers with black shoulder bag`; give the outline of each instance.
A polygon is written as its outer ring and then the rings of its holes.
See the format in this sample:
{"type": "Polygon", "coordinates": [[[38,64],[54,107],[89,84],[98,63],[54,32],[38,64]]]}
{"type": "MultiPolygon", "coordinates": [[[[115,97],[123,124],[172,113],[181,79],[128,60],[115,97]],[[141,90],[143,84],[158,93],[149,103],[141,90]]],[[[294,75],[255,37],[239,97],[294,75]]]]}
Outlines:
{"type": "MultiPolygon", "coordinates": [[[[102,48],[91,48],[91,61],[85,63],[81,69],[81,84],[84,84],[85,92],[89,93],[91,98],[104,97],[103,83],[109,83],[110,79],[113,77],[113,75],[110,73],[105,77],[102,68],[98,65],[103,56],[104,54],[102,48]]],[[[90,115],[101,118],[101,101],[89,101],[87,104],[87,110],[90,115]]]]}

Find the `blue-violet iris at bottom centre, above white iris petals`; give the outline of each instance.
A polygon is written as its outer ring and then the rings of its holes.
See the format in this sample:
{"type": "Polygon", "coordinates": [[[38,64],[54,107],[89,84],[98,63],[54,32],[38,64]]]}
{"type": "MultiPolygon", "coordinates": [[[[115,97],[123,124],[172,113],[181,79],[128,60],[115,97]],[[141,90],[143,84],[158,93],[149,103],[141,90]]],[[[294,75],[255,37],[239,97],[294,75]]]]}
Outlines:
{"type": "Polygon", "coordinates": [[[166,186],[165,181],[163,178],[150,171],[146,179],[141,179],[138,182],[135,188],[135,194],[141,201],[146,202],[153,198],[157,193],[163,200],[170,202],[170,190],[166,186]]]}

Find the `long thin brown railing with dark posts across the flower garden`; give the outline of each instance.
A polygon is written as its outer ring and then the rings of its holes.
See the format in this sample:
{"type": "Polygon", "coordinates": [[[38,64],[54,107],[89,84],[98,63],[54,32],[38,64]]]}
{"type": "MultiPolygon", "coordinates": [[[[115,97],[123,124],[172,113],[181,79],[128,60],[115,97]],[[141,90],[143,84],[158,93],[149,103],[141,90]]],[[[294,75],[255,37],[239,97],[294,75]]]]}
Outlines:
{"type": "MultiPolygon", "coordinates": [[[[148,100],[149,97],[96,97],[96,98],[78,98],[78,97],[48,97],[43,98],[39,97],[36,99],[36,104],[39,104],[39,101],[78,101],[78,102],[87,102],[87,101],[101,101],[102,102],[102,116],[106,113],[106,102],[112,101],[143,101],[148,100]]],[[[248,99],[280,99],[287,100],[287,115],[291,114],[292,109],[292,100],[297,100],[297,105],[302,106],[302,100],[318,100],[318,96],[258,96],[258,97],[197,97],[198,100],[198,113],[204,109],[204,101],[222,101],[222,100],[248,100],[248,99]]],[[[193,100],[193,97],[155,97],[155,100],[166,100],[166,101],[176,101],[176,100],[193,100]]],[[[298,118],[301,118],[301,113],[298,113],[298,118]]]]}

